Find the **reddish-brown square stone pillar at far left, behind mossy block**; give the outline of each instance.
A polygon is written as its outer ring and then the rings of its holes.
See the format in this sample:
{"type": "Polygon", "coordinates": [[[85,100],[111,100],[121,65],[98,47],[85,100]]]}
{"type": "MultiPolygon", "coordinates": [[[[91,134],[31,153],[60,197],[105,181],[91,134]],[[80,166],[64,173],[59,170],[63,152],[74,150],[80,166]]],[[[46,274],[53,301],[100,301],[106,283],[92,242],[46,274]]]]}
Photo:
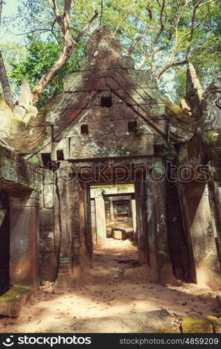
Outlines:
{"type": "Polygon", "coordinates": [[[10,284],[38,288],[39,193],[10,193],[10,284]]]}

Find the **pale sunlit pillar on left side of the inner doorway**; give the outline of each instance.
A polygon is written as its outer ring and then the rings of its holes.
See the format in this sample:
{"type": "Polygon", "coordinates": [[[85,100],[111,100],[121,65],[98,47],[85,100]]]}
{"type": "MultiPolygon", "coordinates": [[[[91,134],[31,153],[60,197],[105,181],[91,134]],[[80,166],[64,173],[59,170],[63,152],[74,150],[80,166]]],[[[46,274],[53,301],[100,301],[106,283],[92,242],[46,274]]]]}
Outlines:
{"type": "Polygon", "coordinates": [[[107,239],[105,200],[103,198],[95,198],[95,206],[96,206],[97,244],[103,244],[107,239]]]}

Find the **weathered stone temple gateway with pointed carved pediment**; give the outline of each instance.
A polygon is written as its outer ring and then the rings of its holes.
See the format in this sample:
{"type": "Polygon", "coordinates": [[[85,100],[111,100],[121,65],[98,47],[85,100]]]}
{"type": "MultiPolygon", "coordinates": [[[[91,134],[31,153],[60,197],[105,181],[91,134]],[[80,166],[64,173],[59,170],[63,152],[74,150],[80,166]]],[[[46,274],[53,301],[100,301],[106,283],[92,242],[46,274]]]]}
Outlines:
{"type": "MultiPolygon", "coordinates": [[[[203,91],[191,64],[173,105],[106,27],[43,110],[26,80],[0,104],[1,294],[84,280],[93,269],[90,187],[134,185],[140,265],[149,281],[221,287],[221,78],[203,91]]],[[[123,196],[121,194],[121,196],[123,196]]],[[[102,197],[100,216],[102,216],[102,197]]]]}

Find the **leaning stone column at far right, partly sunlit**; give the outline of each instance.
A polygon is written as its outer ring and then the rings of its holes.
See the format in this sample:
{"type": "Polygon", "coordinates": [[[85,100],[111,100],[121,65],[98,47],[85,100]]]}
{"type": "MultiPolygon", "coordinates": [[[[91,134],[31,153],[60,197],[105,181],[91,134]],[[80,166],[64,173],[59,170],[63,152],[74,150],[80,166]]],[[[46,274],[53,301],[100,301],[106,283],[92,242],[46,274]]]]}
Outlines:
{"type": "Polygon", "coordinates": [[[190,278],[213,290],[221,286],[218,252],[215,246],[208,186],[205,183],[179,186],[190,250],[190,278]]]}

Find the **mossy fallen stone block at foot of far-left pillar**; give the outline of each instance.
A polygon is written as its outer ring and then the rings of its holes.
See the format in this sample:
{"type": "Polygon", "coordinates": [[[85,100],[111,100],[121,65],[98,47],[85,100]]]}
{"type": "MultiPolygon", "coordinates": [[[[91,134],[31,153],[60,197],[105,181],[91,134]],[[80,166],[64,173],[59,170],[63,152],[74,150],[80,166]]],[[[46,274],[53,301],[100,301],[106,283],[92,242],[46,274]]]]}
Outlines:
{"type": "Polygon", "coordinates": [[[31,295],[33,295],[32,288],[19,285],[13,286],[0,297],[0,315],[17,318],[31,295]]]}

